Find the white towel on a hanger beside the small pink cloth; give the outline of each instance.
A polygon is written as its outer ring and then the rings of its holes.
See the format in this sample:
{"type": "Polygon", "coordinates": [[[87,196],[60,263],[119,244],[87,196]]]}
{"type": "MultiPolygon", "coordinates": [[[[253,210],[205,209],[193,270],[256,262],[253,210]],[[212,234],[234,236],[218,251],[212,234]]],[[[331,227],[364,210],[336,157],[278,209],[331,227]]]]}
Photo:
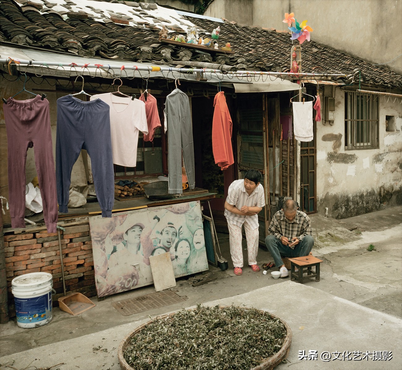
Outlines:
{"type": "Polygon", "coordinates": [[[298,141],[312,141],[313,134],[313,102],[293,101],[293,130],[298,141]]]}

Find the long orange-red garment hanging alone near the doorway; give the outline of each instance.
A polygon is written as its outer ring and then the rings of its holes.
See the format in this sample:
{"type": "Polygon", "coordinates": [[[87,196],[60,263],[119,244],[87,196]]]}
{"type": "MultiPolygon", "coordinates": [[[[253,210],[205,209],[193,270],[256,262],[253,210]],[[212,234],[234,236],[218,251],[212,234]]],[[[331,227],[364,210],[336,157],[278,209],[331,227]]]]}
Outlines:
{"type": "Polygon", "coordinates": [[[232,118],[223,91],[219,91],[213,100],[212,153],[215,163],[222,170],[234,163],[232,150],[232,118]]]}

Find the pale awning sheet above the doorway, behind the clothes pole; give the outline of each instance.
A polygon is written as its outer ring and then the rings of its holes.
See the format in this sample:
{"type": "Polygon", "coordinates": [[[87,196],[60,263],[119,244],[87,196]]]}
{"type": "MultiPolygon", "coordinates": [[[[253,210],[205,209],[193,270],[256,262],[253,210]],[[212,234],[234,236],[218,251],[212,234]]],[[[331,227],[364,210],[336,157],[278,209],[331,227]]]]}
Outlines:
{"type": "MultiPolygon", "coordinates": [[[[267,93],[275,91],[294,91],[299,90],[300,86],[289,80],[282,80],[279,77],[256,75],[252,76],[252,81],[248,83],[232,83],[236,93],[267,93]],[[254,81],[254,79],[258,79],[254,81]]],[[[246,82],[245,78],[242,82],[246,82]]]]}

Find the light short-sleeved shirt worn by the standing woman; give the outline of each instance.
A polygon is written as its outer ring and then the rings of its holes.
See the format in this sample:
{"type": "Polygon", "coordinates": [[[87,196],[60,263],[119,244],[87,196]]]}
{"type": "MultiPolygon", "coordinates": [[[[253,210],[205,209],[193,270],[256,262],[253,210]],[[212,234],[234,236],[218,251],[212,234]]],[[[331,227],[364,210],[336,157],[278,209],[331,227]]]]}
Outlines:
{"type": "MultiPolygon", "coordinates": [[[[244,180],[235,180],[229,186],[226,202],[232,206],[236,206],[236,208],[239,210],[243,206],[263,208],[265,206],[264,188],[261,184],[259,184],[254,191],[248,195],[246,188],[244,188],[244,180]]],[[[242,216],[236,215],[236,213],[232,213],[225,209],[225,216],[228,223],[242,227],[244,221],[246,221],[252,230],[258,228],[258,214],[252,216],[242,216]]]]}

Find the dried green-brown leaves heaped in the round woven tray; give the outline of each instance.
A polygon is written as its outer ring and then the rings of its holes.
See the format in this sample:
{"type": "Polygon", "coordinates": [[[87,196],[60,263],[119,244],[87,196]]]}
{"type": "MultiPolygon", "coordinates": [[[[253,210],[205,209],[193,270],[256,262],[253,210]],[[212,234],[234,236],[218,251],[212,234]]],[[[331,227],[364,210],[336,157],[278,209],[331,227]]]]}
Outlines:
{"type": "Polygon", "coordinates": [[[277,353],[285,325],[254,308],[184,308],[156,318],[131,338],[123,357],[133,369],[250,369],[277,353]]]}

